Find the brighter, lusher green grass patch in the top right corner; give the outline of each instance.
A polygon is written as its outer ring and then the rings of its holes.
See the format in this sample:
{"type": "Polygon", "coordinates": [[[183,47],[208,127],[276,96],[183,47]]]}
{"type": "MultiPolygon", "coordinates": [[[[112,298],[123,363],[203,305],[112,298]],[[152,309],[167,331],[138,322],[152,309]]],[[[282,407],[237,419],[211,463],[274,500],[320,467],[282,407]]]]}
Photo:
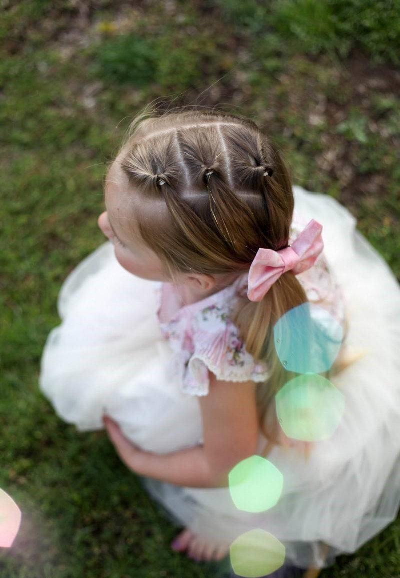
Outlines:
{"type": "Polygon", "coordinates": [[[399,0],[219,0],[223,14],[252,34],[277,33],[294,50],[347,57],[361,48],[374,62],[400,64],[399,0]]]}

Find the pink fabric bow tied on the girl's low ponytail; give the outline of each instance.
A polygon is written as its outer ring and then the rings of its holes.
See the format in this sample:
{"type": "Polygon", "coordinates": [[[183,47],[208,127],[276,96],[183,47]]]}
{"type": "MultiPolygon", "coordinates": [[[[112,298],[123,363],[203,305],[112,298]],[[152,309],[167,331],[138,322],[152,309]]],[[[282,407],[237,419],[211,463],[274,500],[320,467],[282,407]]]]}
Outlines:
{"type": "Polygon", "coordinates": [[[313,266],[324,248],[322,224],[311,219],[289,247],[274,251],[260,247],[249,269],[247,297],[261,301],[276,279],[293,269],[298,275],[313,266]]]}

